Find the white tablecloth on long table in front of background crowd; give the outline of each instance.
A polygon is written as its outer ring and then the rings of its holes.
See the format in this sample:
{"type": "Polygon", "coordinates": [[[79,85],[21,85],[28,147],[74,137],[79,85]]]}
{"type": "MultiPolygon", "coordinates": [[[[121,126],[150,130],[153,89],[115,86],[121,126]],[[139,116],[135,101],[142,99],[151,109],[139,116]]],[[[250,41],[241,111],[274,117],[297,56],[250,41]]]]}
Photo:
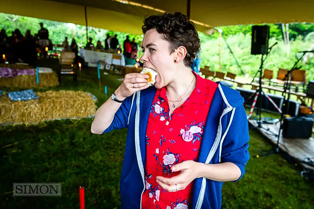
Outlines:
{"type": "MultiPolygon", "coordinates": [[[[97,51],[91,51],[91,50],[85,50],[81,49],[79,51],[79,54],[81,57],[84,58],[85,62],[88,63],[97,63],[99,61],[104,61],[106,64],[114,64],[114,65],[120,65],[120,60],[114,59],[112,60],[112,55],[111,53],[106,53],[106,52],[97,52],[97,51]]],[[[122,57],[121,59],[121,65],[125,66],[125,60],[123,55],[119,55],[122,57]]]]}

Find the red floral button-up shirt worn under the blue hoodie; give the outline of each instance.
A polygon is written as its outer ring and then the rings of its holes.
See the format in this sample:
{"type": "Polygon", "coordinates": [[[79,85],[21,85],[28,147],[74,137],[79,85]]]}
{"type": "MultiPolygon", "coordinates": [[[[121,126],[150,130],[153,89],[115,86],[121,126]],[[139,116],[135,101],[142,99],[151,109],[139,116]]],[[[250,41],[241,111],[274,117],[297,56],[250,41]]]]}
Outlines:
{"type": "Polygon", "coordinates": [[[198,160],[203,128],[217,87],[217,83],[197,76],[192,94],[174,110],[171,118],[166,88],[157,89],[146,130],[143,209],[191,208],[192,183],[184,190],[167,192],[156,182],[156,177],[176,176],[180,171],[172,172],[171,166],[184,160],[198,160]]]}

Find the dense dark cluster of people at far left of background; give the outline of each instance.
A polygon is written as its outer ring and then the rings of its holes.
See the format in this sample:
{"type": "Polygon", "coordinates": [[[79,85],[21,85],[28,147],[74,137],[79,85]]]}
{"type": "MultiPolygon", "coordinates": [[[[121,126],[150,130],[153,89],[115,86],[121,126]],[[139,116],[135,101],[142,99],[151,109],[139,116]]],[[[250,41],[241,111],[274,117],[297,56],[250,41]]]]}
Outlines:
{"type": "Polygon", "coordinates": [[[19,29],[15,29],[11,32],[11,36],[7,35],[5,29],[0,32],[0,54],[6,55],[6,58],[10,62],[25,62],[33,64],[38,57],[38,53],[41,56],[46,57],[47,51],[52,50],[52,42],[49,39],[49,32],[40,24],[37,34],[34,36],[27,30],[23,35],[19,29]]]}

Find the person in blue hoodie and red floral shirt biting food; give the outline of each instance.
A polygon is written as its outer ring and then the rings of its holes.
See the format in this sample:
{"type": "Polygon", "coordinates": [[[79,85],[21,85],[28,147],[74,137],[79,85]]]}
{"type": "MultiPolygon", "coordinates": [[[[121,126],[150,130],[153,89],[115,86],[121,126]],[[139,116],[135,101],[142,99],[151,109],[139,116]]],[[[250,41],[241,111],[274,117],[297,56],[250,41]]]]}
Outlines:
{"type": "Polygon", "coordinates": [[[193,22],[161,13],[142,26],[144,68],[96,112],[91,132],[128,128],[122,208],[221,208],[224,181],[245,173],[248,123],[240,93],[191,71],[193,22]]]}

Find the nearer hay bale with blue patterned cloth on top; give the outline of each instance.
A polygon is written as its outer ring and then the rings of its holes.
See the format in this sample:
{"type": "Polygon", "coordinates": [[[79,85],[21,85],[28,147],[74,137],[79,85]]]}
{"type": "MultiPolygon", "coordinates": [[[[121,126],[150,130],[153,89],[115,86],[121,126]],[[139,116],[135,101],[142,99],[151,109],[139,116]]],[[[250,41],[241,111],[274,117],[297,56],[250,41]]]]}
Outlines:
{"type": "Polygon", "coordinates": [[[83,91],[36,92],[38,100],[12,102],[0,98],[1,123],[39,123],[65,118],[86,118],[96,113],[95,101],[83,91]]]}

